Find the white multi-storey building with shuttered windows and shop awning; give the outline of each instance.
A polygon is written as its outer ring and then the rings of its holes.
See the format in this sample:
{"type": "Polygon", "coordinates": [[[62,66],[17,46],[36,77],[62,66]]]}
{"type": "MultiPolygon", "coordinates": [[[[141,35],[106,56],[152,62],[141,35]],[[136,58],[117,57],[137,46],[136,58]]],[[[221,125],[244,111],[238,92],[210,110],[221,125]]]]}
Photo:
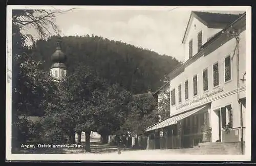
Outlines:
{"type": "Polygon", "coordinates": [[[245,34],[245,13],[191,12],[185,62],[168,74],[170,117],[145,129],[155,149],[245,142],[245,34]]]}

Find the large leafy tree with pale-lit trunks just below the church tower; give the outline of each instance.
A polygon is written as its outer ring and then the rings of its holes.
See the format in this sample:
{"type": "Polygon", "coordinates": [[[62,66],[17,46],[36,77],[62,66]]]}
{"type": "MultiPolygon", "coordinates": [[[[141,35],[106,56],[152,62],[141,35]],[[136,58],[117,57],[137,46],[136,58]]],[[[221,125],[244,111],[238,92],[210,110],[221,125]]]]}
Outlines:
{"type": "Polygon", "coordinates": [[[75,131],[78,134],[85,131],[86,151],[90,151],[90,133],[97,130],[95,106],[104,89],[104,82],[90,68],[77,66],[73,73],[68,72],[59,82],[57,97],[49,103],[44,117],[46,127],[59,127],[69,135],[70,143],[75,142],[75,131]]]}

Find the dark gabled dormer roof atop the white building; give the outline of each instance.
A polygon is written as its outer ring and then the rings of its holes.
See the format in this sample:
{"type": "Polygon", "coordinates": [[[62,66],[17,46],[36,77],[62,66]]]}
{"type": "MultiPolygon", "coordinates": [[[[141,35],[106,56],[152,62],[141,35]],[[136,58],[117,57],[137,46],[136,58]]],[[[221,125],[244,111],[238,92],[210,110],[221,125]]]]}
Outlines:
{"type": "Polygon", "coordinates": [[[200,22],[205,24],[209,28],[224,29],[227,25],[232,23],[241,17],[242,14],[224,14],[224,13],[210,13],[210,12],[199,12],[192,11],[187,23],[186,31],[182,40],[185,43],[188,35],[189,27],[193,21],[193,18],[197,18],[200,22]]]}

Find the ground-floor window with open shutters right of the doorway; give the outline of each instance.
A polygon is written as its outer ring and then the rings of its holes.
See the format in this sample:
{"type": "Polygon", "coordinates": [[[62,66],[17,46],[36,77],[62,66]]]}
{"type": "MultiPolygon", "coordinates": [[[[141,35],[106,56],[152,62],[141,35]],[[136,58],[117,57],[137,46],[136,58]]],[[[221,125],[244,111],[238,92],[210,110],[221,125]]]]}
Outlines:
{"type": "Polygon", "coordinates": [[[221,123],[222,128],[229,124],[229,127],[233,126],[233,115],[232,115],[231,104],[221,108],[221,123]]]}

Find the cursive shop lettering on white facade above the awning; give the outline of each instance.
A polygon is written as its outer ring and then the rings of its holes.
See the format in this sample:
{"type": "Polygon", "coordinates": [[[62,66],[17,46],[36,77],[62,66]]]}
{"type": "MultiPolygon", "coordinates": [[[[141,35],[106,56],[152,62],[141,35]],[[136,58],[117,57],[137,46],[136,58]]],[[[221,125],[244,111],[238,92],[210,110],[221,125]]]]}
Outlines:
{"type": "Polygon", "coordinates": [[[188,105],[191,105],[193,103],[196,103],[196,102],[200,102],[202,100],[206,100],[206,99],[209,99],[209,98],[212,98],[214,97],[216,94],[218,93],[221,93],[223,92],[223,88],[219,88],[218,90],[215,90],[215,91],[211,91],[209,93],[206,93],[196,99],[193,99],[193,100],[189,100],[187,102],[184,102],[182,104],[179,104],[178,106],[176,106],[176,110],[180,109],[180,108],[183,108],[184,106],[188,106],[188,105]]]}

